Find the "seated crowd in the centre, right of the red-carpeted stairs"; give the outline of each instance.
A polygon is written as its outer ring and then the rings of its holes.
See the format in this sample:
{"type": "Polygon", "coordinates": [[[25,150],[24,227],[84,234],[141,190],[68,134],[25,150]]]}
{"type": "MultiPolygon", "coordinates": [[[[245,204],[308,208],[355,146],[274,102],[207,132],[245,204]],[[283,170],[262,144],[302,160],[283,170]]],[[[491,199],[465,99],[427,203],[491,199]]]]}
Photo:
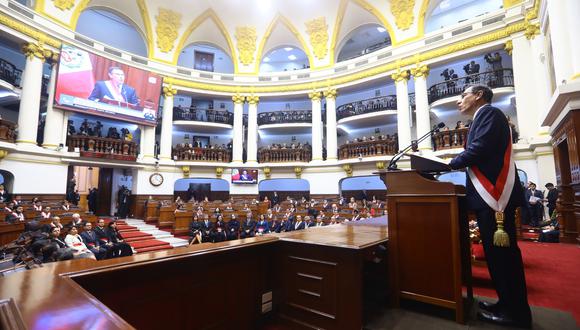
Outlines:
{"type": "Polygon", "coordinates": [[[178,197],[175,207],[176,213],[185,212],[186,208],[193,210],[189,225],[191,244],[336,225],[378,217],[385,212],[385,203],[375,196],[370,201],[357,201],[354,197],[350,201],[344,197],[336,201],[309,200],[306,197],[297,200],[288,196],[281,203],[278,203],[277,194],[274,194],[273,201],[265,196],[261,202],[256,199],[234,202],[230,199],[225,203],[212,203],[206,197],[201,202],[192,199],[185,203],[178,197]],[[260,212],[258,204],[266,205],[262,208],[265,212],[260,212]],[[239,219],[240,213],[245,219],[239,219]]]}

